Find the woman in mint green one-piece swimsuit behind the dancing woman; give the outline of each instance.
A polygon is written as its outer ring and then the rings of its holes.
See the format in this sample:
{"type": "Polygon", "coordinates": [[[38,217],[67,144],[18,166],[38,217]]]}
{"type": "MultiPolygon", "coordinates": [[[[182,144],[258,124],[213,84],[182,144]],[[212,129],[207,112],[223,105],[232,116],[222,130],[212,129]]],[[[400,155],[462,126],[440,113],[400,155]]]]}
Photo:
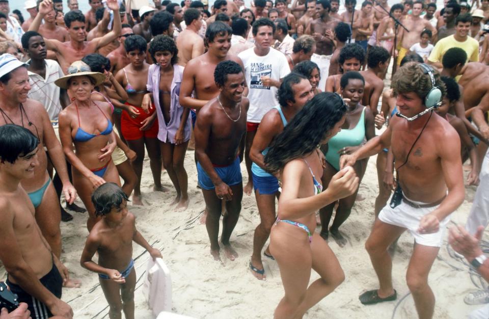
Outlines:
{"type": "MultiPolygon", "coordinates": [[[[340,156],[350,154],[357,150],[366,138],[367,141],[375,136],[374,117],[370,108],[361,104],[365,88],[363,76],[356,71],[349,71],[341,76],[341,93],[343,98],[349,99],[347,103],[348,112],[346,121],[342,126],[342,131],[331,138],[327,145],[321,149],[326,157],[327,165],[324,169],[323,182],[328,183],[331,178],[340,170],[340,156]]],[[[357,161],[354,166],[357,176],[362,180],[365,174],[368,159],[357,161]]],[[[328,239],[329,233],[333,236],[338,246],[343,247],[346,239],[338,228],[350,216],[351,208],[355,203],[358,189],[354,194],[340,200],[336,209],[333,225],[328,232],[328,225],[333,215],[335,203],[331,203],[319,210],[321,217],[321,237],[328,239]]]]}

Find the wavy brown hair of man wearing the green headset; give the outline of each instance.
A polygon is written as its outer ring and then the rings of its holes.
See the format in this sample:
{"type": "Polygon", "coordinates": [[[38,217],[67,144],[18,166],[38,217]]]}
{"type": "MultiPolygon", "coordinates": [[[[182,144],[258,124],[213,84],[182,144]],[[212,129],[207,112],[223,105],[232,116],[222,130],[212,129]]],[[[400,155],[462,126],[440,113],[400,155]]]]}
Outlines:
{"type": "MultiPolygon", "coordinates": [[[[442,91],[442,96],[445,95],[445,84],[440,78],[438,70],[433,69],[435,85],[442,91]]],[[[419,63],[410,62],[401,66],[392,77],[391,87],[395,95],[399,93],[414,92],[423,101],[431,90],[431,79],[419,63]]]]}

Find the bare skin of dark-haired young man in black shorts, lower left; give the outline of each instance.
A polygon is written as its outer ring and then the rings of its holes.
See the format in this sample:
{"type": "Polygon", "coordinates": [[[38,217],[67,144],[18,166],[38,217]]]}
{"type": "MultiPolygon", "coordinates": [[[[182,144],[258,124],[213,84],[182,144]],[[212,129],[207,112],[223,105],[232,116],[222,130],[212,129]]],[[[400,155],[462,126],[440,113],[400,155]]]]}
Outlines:
{"type": "Polygon", "coordinates": [[[64,280],[68,278],[68,270],[49,249],[36,223],[34,206],[20,187],[21,179],[34,177],[40,164],[38,153],[43,152],[40,145],[28,154],[20,154],[13,164],[0,163],[0,243],[3,247],[0,260],[9,281],[45,304],[52,314],[72,318],[71,307],[39,281],[53,266],[58,268],[64,280]]]}

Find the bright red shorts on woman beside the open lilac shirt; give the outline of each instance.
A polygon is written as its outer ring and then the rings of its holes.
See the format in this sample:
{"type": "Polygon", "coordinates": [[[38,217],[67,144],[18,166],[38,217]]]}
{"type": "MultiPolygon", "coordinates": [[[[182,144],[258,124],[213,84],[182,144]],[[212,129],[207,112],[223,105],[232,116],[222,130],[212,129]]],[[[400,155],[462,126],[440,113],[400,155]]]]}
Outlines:
{"type": "MultiPolygon", "coordinates": [[[[125,105],[131,105],[127,102],[124,103],[125,105]]],[[[134,105],[133,105],[134,106],[134,105]]],[[[139,140],[142,139],[143,137],[145,138],[150,138],[150,139],[155,139],[158,136],[158,119],[156,119],[153,122],[153,125],[148,130],[141,130],[141,122],[146,119],[147,117],[151,116],[154,112],[156,112],[156,109],[154,107],[154,104],[152,104],[152,110],[150,110],[149,114],[146,114],[143,109],[136,107],[139,109],[139,116],[135,119],[129,116],[129,113],[127,113],[126,110],[122,111],[121,115],[121,133],[124,139],[127,141],[132,141],[132,140],[139,140]]]]}

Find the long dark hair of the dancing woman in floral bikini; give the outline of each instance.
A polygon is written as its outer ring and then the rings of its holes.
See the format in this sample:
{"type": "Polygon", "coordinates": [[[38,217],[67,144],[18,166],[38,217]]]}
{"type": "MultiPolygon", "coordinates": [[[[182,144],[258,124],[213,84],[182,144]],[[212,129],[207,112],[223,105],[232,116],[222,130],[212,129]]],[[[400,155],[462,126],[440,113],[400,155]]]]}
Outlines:
{"type": "Polygon", "coordinates": [[[312,152],[346,113],[343,99],[336,93],[322,92],[309,100],[270,144],[265,167],[279,172],[292,159],[312,152]]]}

